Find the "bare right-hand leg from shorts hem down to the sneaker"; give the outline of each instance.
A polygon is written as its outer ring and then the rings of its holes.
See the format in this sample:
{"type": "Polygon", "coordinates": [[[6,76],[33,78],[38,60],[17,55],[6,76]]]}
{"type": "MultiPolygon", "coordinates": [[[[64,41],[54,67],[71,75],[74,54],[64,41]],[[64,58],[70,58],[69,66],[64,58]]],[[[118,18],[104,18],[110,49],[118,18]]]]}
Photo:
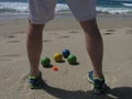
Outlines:
{"type": "Polygon", "coordinates": [[[94,66],[94,75],[102,77],[103,44],[96,19],[80,22],[80,25],[85,32],[86,47],[94,66]]]}

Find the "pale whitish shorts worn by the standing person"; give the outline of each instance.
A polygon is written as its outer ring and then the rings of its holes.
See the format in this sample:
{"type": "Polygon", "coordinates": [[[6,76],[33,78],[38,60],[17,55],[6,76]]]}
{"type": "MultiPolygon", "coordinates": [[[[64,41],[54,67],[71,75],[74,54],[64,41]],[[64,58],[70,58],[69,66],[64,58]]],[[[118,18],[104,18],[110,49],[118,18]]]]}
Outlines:
{"type": "MultiPolygon", "coordinates": [[[[66,0],[75,18],[81,22],[96,18],[96,0],[66,0]]],[[[54,18],[56,0],[29,0],[29,19],[45,24],[54,18]]]]}

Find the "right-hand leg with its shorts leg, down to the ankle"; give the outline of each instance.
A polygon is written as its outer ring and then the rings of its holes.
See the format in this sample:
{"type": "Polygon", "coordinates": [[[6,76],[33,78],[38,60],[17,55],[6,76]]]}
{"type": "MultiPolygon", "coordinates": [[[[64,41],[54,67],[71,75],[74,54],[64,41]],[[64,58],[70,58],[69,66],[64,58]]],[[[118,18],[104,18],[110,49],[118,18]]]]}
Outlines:
{"type": "Polygon", "coordinates": [[[67,3],[84,29],[87,51],[94,66],[94,74],[95,76],[102,76],[103,45],[96,22],[96,0],[67,0],[67,3]]]}

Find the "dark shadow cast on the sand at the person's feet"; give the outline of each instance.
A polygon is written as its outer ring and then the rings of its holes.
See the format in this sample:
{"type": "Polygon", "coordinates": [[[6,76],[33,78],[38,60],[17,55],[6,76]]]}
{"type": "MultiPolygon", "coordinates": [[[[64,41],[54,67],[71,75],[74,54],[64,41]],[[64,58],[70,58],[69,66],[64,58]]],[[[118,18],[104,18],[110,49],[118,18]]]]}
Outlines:
{"type": "Polygon", "coordinates": [[[132,87],[109,89],[102,95],[94,95],[92,91],[65,90],[45,82],[42,89],[58,99],[132,99],[132,87]]]}

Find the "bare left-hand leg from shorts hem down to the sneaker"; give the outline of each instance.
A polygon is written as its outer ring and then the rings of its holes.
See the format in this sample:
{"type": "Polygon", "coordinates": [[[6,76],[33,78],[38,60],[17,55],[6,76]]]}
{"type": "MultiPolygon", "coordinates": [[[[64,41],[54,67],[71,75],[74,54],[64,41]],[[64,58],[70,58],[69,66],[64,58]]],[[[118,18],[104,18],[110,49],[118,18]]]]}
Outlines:
{"type": "Polygon", "coordinates": [[[26,48],[32,76],[37,76],[40,72],[38,65],[43,44],[43,29],[44,24],[29,23],[26,48]]]}

